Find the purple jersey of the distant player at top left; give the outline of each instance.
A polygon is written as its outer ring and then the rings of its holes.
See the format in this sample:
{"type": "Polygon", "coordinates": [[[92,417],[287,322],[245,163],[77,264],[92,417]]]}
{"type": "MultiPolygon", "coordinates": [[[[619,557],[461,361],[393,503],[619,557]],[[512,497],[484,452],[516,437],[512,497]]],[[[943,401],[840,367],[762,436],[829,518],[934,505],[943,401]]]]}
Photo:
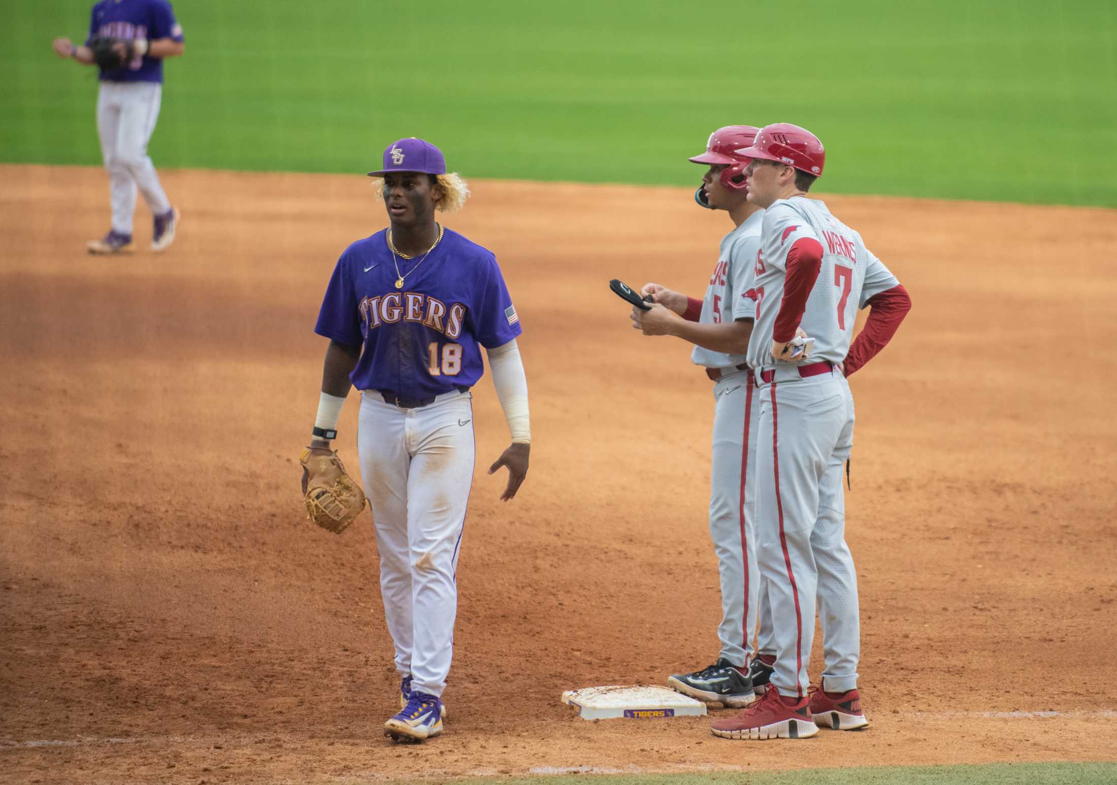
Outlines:
{"type": "MultiPolygon", "coordinates": [[[[93,7],[89,37],[85,45],[98,36],[105,38],[182,38],[182,26],[174,21],[174,11],[166,0],[101,0],[93,7]]],[[[133,57],[131,63],[115,70],[101,70],[104,82],[163,82],[162,57],[133,57]]]]}

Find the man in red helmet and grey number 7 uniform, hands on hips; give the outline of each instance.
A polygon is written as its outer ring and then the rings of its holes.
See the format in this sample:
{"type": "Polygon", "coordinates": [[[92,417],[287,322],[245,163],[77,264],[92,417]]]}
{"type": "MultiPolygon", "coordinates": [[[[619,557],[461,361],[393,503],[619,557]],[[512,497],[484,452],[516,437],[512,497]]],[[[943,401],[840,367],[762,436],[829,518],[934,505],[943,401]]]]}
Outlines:
{"type": "Polygon", "coordinates": [[[844,539],[842,465],[853,439],[846,373],[892,337],[910,299],[861,236],[806,197],[825,153],[805,128],[763,127],[742,151],[748,201],[764,208],[755,260],[756,318],[748,363],[760,385],[756,456],[758,563],[774,629],[770,689],[738,717],[713,725],[717,736],[803,738],[818,724],[867,725],[857,690],[860,625],[857,574],[844,539]],[[851,346],[857,309],[872,310],[851,346]],[[796,329],[813,348],[793,356],[796,329]],[[848,357],[847,357],[848,355],[848,357]],[[815,592],[824,668],[818,688],[808,670],[815,592]]]}

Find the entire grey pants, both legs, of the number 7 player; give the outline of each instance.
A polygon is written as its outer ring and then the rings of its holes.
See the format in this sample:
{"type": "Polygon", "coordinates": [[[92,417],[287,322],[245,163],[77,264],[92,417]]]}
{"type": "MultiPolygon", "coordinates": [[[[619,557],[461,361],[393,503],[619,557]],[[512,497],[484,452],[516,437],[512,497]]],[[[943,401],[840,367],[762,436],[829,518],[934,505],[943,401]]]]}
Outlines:
{"type": "MultiPolygon", "coordinates": [[[[771,604],[781,695],[802,697],[822,616],[823,689],[857,687],[857,573],[844,539],[842,467],[853,443],[853,398],[841,368],[800,379],[780,366],[761,385],[756,458],[758,561],[771,604]]],[[[762,650],[763,651],[763,650],[762,650]]]]}

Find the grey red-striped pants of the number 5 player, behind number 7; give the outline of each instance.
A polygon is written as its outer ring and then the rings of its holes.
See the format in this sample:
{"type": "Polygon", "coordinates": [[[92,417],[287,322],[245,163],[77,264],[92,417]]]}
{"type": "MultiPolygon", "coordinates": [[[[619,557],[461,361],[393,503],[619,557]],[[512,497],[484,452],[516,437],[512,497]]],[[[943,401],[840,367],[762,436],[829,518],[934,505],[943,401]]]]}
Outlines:
{"type": "Polygon", "coordinates": [[[758,419],[758,396],[745,372],[717,381],[709,495],[709,534],[722,584],[722,623],[717,636],[722,642],[719,655],[742,667],[748,664],[753,654],[760,591],[753,489],[747,481],[753,476],[758,419]]]}

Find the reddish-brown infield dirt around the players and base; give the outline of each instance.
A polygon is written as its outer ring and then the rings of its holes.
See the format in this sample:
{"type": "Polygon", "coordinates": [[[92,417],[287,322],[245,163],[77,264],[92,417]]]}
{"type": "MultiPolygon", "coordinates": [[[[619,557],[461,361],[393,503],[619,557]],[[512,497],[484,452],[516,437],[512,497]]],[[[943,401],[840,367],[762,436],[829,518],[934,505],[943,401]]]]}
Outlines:
{"type": "Polygon", "coordinates": [[[822,197],[914,300],[851,379],[871,727],[762,744],[558,700],[716,657],[712,385],[607,283],[700,296],[728,219],[685,189],[472,183],[446,223],[521,313],[532,469],[499,502],[484,379],[447,731],[401,747],[370,519],[315,529],[296,462],[322,293],[382,205],[360,175],[163,178],[174,246],[95,258],[103,171],[0,166],[3,782],[1117,759],[1117,212],[822,197]]]}

